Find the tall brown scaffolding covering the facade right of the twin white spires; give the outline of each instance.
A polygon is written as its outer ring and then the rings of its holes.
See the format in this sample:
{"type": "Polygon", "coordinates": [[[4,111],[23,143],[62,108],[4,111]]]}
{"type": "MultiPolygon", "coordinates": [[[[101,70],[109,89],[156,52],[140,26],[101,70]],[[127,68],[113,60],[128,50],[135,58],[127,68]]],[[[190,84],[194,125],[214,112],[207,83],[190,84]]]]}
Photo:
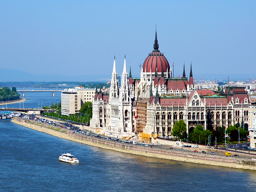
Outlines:
{"type": "Polygon", "coordinates": [[[142,133],[146,126],[147,117],[147,99],[138,98],[136,102],[136,133],[142,133]]]}

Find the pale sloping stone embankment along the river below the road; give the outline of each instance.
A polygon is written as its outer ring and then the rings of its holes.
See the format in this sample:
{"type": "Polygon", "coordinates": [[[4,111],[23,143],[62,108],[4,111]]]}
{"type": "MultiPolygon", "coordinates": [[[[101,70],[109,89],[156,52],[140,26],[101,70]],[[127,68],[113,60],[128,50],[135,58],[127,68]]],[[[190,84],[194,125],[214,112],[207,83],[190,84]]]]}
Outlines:
{"type": "Polygon", "coordinates": [[[69,130],[58,128],[45,123],[40,123],[38,121],[22,121],[22,119],[13,118],[12,122],[31,128],[33,130],[41,131],[55,137],[64,138],[72,140],[75,142],[80,142],[87,145],[92,145],[95,147],[100,147],[103,149],[110,149],[119,152],[125,152],[135,155],[156,157],[161,159],[170,159],[175,161],[183,161],[187,163],[197,163],[197,164],[207,164],[213,166],[223,166],[230,168],[246,169],[246,170],[256,170],[256,161],[243,161],[234,158],[227,157],[209,157],[203,154],[186,154],[183,152],[175,152],[171,150],[164,149],[154,149],[150,147],[139,147],[135,145],[126,145],[119,142],[109,142],[107,140],[97,139],[95,137],[90,137],[86,135],[78,135],[74,133],[69,133],[69,130]]]}

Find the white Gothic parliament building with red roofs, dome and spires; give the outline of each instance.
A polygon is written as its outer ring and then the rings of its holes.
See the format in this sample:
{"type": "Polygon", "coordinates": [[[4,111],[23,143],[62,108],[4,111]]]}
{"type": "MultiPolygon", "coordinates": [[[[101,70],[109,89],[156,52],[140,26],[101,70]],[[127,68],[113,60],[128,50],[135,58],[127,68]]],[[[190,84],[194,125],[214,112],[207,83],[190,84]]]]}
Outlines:
{"type": "Polygon", "coordinates": [[[170,64],[159,51],[157,33],[154,50],[140,69],[140,78],[127,73],[123,64],[121,85],[118,83],[114,59],[109,93],[96,90],[90,130],[121,138],[140,135],[142,140],[171,136],[180,119],[190,133],[197,125],[218,130],[237,122],[248,128],[249,97],[244,87],[229,87],[214,94],[212,90],[196,90],[190,64],[189,77],[183,66],[182,77],[175,78],[170,64]]]}

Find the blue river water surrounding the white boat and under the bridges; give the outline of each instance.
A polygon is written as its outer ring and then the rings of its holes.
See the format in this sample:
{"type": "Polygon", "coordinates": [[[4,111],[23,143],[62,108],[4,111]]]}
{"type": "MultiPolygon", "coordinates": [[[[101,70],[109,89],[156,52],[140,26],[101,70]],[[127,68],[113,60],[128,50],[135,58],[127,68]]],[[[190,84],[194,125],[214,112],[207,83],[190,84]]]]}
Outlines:
{"type": "MultiPolygon", "coordinates": [[[[24,102],[28,108],[38,107],[38,101],[45,105],[60,101],[60,94],[56,97],[50,93],[28,94],[25,98],[31,99],[24,102]]],[[[19,107],[19,104],[12,105],[19,107]]],[[[9,119],[0,120],[0,159],[1,192],[245,192],[256,189],[256,171],[101,149],[31,130],[9,119]],[[58,157],[64,152],[74,154],[81,164],[59,162],[58,157]]]]}

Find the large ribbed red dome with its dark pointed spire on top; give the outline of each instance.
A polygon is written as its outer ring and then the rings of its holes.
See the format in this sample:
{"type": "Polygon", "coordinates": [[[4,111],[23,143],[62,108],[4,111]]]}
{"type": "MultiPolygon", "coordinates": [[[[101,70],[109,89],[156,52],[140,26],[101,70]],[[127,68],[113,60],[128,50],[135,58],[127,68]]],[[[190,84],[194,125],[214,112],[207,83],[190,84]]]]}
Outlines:
{"type": "Polygon", "coordinates": [[[167,61],[167,59],[164,57],[163,54],[158,50],[158,43],[157,43],[157,35],[155,38],[155,43],[154,43],[154,50],[147,59],[145,59],[143,63],[143,72],[150,73],[152,69],[152,73],[156,72],[168,72],[170,71],[170,65],[167,61]]]}

